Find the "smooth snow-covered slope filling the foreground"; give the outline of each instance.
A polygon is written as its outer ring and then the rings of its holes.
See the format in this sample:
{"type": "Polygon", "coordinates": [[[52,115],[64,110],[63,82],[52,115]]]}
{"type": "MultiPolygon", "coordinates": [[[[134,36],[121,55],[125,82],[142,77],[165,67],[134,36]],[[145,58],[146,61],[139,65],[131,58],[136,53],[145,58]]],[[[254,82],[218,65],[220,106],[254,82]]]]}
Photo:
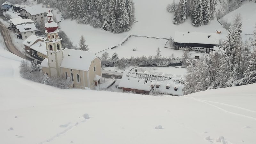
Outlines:
{"type": "Polygon", "coordinates": [[[20,78],[20,60],[0,49],[0,143],[256,141],[256,84],[183,97],[62,90],[20,78]]]}

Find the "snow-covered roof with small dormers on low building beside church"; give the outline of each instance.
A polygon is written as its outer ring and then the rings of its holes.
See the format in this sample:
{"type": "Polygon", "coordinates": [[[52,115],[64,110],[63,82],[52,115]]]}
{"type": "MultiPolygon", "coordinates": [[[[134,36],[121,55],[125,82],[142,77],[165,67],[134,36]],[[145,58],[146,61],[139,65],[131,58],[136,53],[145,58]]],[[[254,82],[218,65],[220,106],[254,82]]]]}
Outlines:
{"type": "Polygon", "coordinates": [[[167,93],[172,95],[183,95],[182,88],[178,91],[174,91],[174,85],[180,85],[177,81],[173,81],[172,77],[155,75],[155,74],[145,74],[132,71],[124,71],[124,75],[119,83],[119,87],[130,88],[136,90],[150,91],[151,85],[159,85],[159,88],[154,87],[154,92],[167,93]],[[166,85],[170,85],[169,89],[166,89],[166,85]]]}

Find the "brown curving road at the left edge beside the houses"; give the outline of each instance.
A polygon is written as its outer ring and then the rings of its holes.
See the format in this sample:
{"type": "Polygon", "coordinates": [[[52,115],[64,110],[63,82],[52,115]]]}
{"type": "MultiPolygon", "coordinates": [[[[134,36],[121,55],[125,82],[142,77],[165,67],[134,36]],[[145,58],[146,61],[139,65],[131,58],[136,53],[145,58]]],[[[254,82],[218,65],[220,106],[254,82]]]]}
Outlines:
{"type": "MultiPolygon", "coordinates": [[[[12,44],[12,39],[11,39],[11,36],[8,32],[9,29],[7,29],[4,24],[0,21],[0,32],[1,32],[1,35],[3,36],[4,38],[4,44],[5,44],[5,48],[7,48],[10,52],[12,52],[13,54],[23,58],[23,59],[27,59],[27,60],[34,60],[26,55],[24,55],[23,53],[21,53],[20,51],[18,51],[15,46],[12,44]]],[[[38,61],[38,63],[40,64],[41,62],[38,61]]]]}

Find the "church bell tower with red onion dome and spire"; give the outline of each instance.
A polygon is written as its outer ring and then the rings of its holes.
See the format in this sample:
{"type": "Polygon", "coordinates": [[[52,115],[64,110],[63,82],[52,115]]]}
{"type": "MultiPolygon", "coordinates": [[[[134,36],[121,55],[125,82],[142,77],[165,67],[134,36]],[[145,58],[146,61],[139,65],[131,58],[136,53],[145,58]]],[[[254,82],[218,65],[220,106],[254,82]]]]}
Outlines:
{"type": "Polygon", "coordinates": [[[45,23],[45,33],[47,38],[44,39],[46,43],[46,52],[48,57],[48,66],[51,76],[60,76],[60,64],[63,59],[61,40],[58,36],[58,24],[52,19],[52,12],[48,11],[48,21],[45,23]]]}

